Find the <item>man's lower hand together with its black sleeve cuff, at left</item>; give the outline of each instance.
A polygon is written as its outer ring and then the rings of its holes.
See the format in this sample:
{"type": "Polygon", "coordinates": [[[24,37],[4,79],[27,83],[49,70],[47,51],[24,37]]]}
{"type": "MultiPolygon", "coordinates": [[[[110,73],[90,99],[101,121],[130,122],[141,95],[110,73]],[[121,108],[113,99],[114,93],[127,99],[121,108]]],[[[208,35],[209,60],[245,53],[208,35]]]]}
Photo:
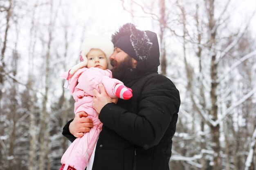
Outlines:
{"type": "Polygon", "coordinates": [[[76,113],[74,119],[71,119],[63,128],[62,134],[73,142],[76,137],[82,137],[83,133],[89,132],[92,128],[92,119],[85,112],[76,113]]]}

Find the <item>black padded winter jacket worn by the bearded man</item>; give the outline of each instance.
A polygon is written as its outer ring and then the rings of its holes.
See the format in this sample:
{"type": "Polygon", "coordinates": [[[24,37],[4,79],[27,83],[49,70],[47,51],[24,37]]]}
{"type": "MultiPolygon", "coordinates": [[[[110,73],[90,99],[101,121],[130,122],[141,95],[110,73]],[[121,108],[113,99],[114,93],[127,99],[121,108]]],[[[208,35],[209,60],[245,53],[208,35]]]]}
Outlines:
{"type": "MultiPolygon", "coordinates": [[[[92,170],[169,170],[179,91],[170,79],[154,73],[155,67],[139,68],[128,69],[122,80],[132,89],[132,98],[107,104],[99,114],[103,128],[92,170]]],[[[63,135],[74,141],[68,130],[71,121],[63,135]]]]}

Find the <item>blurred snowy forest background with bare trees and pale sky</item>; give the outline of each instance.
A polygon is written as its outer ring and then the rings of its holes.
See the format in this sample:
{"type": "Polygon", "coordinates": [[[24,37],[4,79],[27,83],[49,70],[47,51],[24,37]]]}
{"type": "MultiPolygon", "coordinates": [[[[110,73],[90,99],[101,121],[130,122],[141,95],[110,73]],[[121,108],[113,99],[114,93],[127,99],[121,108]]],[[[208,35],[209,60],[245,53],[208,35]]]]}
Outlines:
{"type": "Polygon", "coordinates": [[[0,169],[58,170],[81,42],[126,22],[157,33],[180,91],[171,170],[256,170],[254,0],[0,0],[0,169]]]}

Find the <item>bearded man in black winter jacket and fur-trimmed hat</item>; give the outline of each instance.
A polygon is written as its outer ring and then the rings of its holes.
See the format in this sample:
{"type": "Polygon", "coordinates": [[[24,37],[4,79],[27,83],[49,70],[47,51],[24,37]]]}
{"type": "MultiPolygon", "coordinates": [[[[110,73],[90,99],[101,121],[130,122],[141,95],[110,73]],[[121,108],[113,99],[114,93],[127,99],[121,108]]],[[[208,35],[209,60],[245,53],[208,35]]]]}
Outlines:
{"type": "MultiPolygon", "coordinates": [[[[172,138],[180,108],[179,91],[157,73],[156,33],[127,23],[112,35],[112,75],[132,89],[129,100],[110,98],[100,84],[93,107],[103,123],[87,170],[169,170],[172,138]]],[[[86,113],[76,114],[63,128],[70,141],[92,127],[86,113]]]]}

